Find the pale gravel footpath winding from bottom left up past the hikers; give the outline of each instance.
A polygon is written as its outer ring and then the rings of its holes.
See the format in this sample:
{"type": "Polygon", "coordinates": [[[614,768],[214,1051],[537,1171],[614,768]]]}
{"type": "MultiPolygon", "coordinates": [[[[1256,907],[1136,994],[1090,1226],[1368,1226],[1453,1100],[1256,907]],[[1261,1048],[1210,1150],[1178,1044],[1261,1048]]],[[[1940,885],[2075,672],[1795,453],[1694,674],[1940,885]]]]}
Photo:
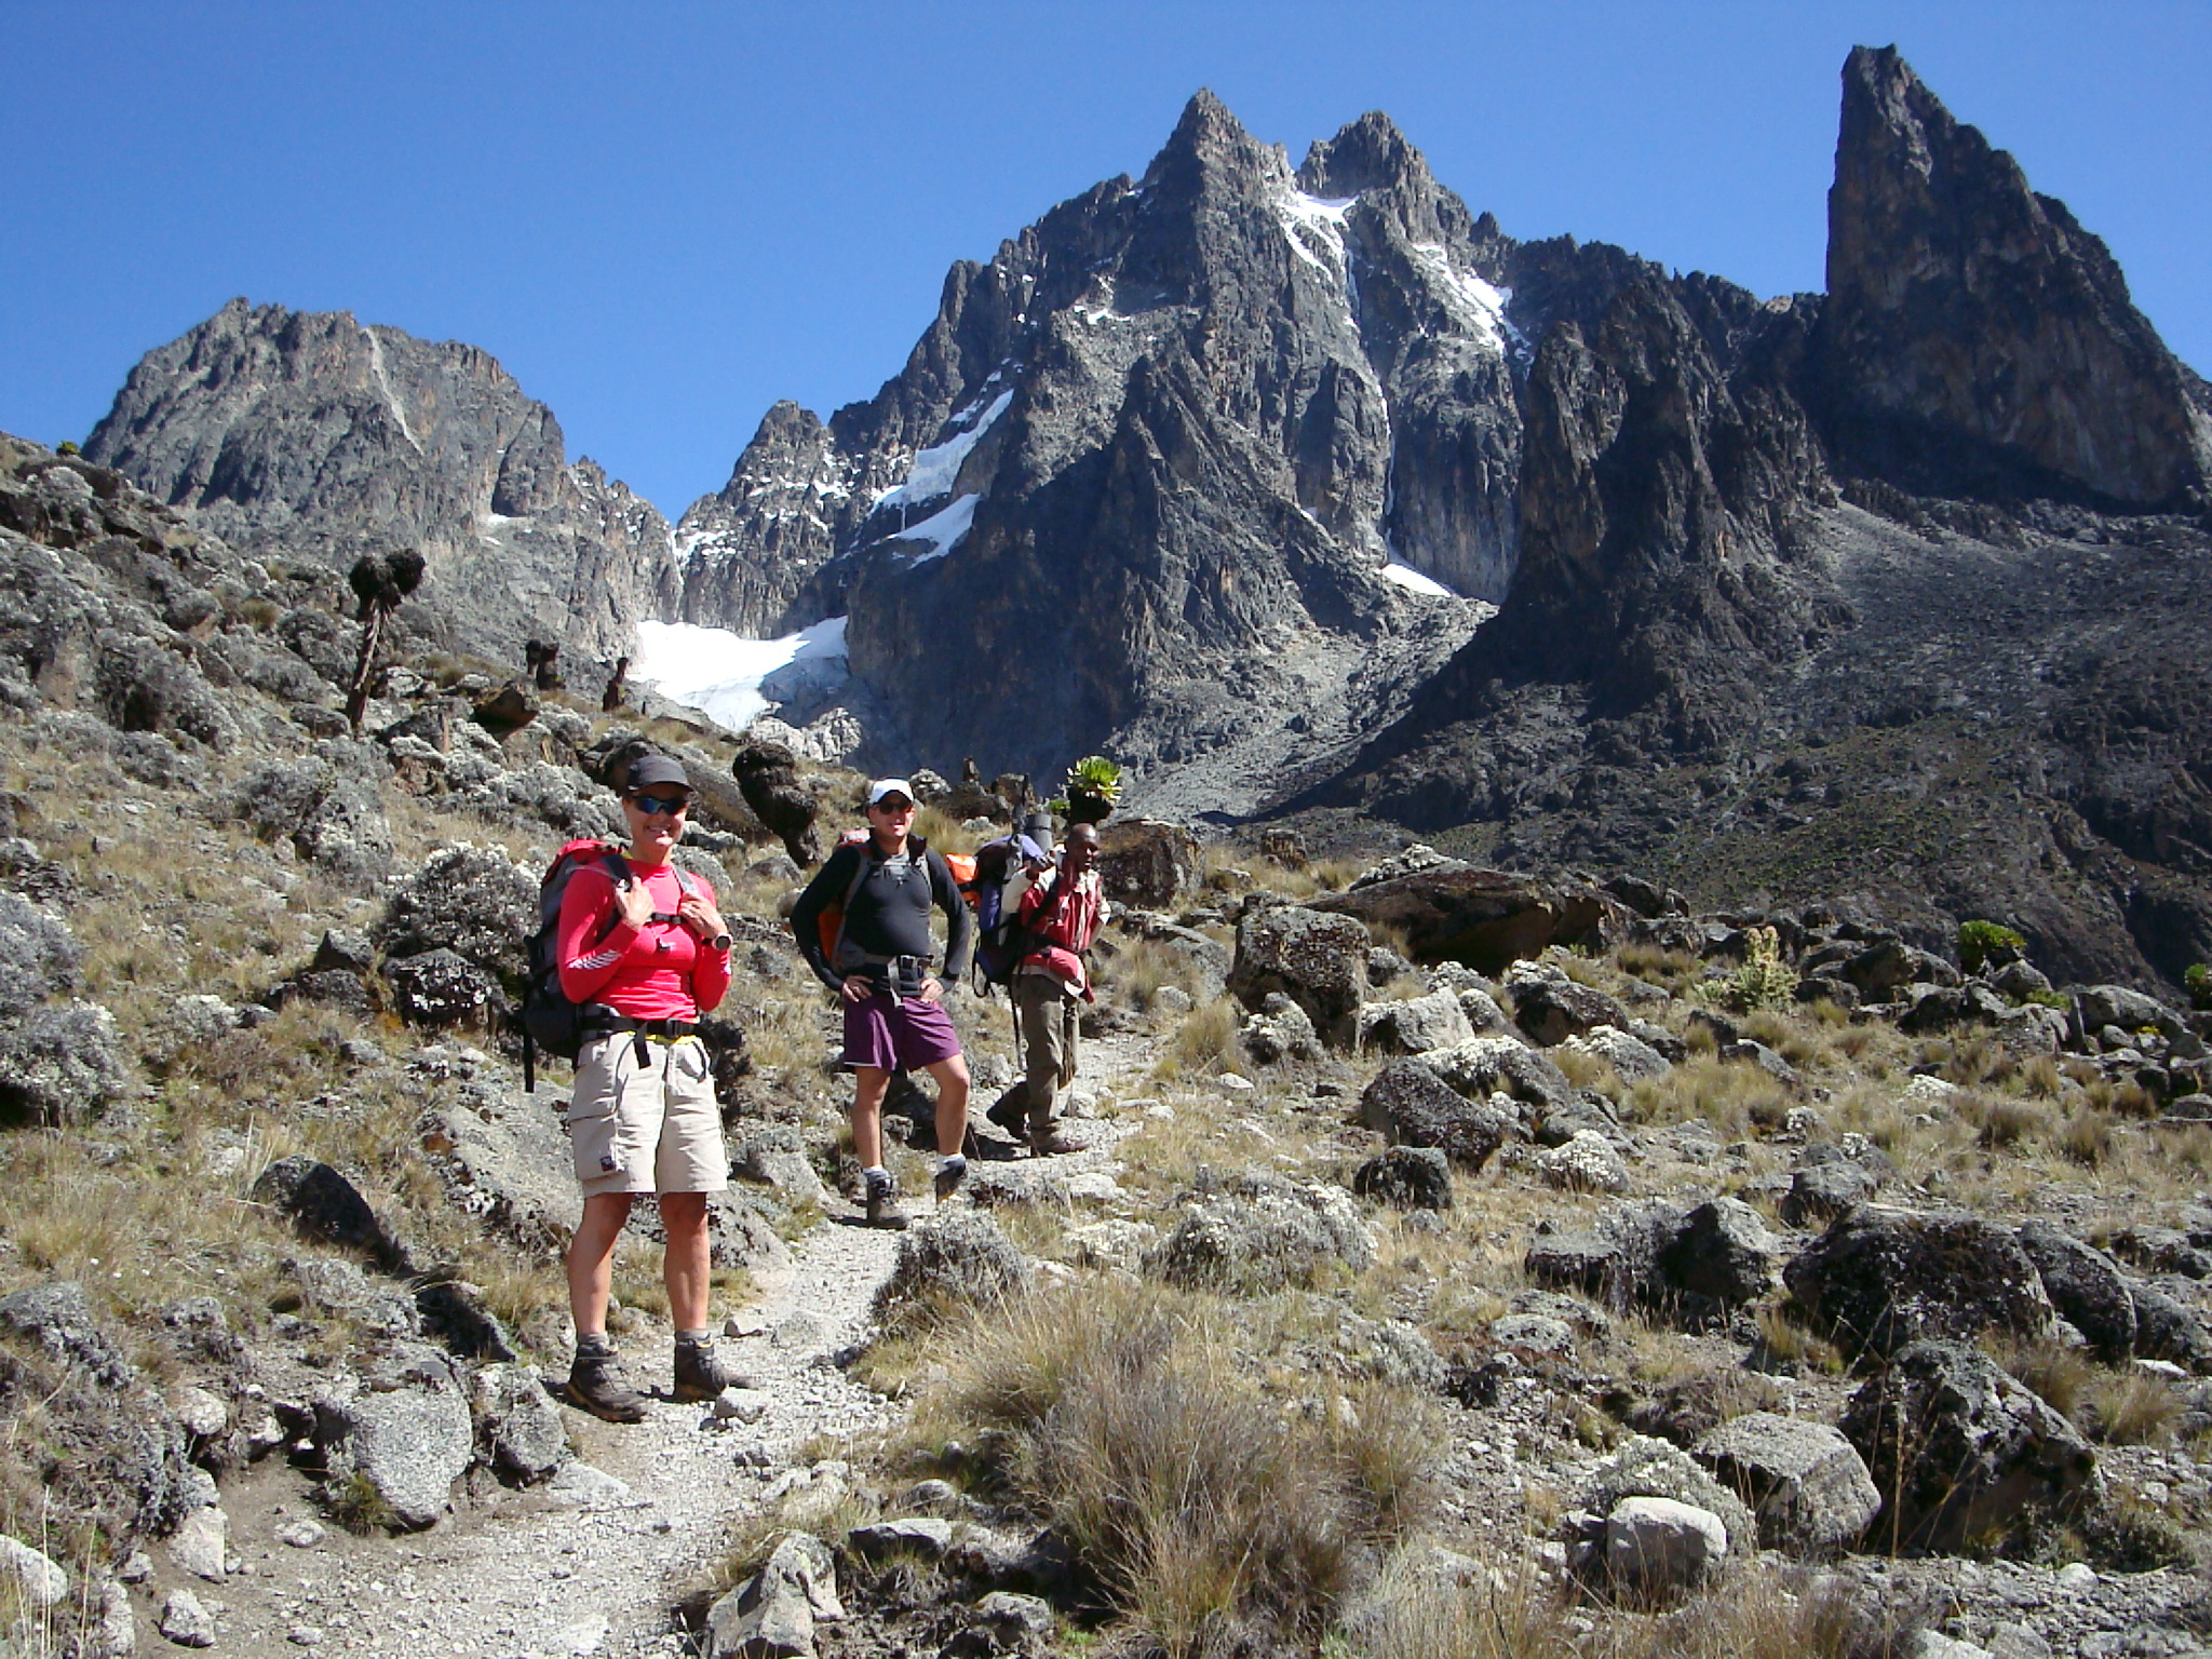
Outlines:
{"type": "MultiPolygon", "coordinates": [[[[1115,1088],[1148,1060],[1144,1044],[1086,1044],[1091,1088],[1115,1088]]],[[[1119,1128],[1119,1126],[1117,1126],[1119,1128]]],[[[1053,1159],[1055,1170],[1110,1164],[1110,1148],[1053,1159]]],[[[964,1199],[956,1199],[964,1201],[964,1199]]],[[[929,1199],[907,1194],[927,1214],[929,1199]]],[[[721,1354],[761,1385],[757,1422],[714,1425],[706,1407],[657,1400],[641,1425],[608,1425],[564,1409],[604,1491],[487,1493],[434,1533],[400,1540],[323,1531],[312,1546],[281,1533],[316,1509],[290,1471],[226,1484],[230,1546],[243,1573],[199,1586],[219,1617],[217,1655],[276,1659],[336,1648],[349,1659],[675,1659],[692,1641],[672,1608],[728,1546],[732,1520],[763,1504],[792,1453],[814,1436],[858,1438],[900,1413],[836,1367],[854,1343],[876,1285],[898,1256],[898,1234],[854,1219],[807,1232],[794,1265],[761,1285],[737,1316],[752,1332],[721,1338],[721,1354]],[[613,1484],[613,1482],[619,1482],[613,1484]],[[582,1498],[582,1506],[577,1500],[582,1498]]],[[[661,1338],[626,1343],[633,1383],[664,1380],[661,1338]]],[[[555,1482],[560,1484],[560,1482],[555,1482]]],[[[166,1648],[153,1630],[139,1650],[166,1648]],[[146,1644],[155,1644],[148,1648],[146,1644]]]]}

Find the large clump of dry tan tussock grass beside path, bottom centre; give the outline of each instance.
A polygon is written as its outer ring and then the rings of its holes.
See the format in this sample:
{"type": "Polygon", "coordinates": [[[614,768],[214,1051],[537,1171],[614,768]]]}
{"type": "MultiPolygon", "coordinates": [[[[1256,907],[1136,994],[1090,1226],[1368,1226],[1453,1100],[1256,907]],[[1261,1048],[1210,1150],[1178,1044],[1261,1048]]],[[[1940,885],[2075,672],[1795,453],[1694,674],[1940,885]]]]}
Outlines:
{"type": "Polygon", "coordinates": [[[980,1449],[958,1473],[1048,1517],[1170,1655],[1254,1621],[1318,1635],[1427,1506],[1425,1400],[1383,1385],[1270,1400],[1212,1298],[1044,1287],[980,1312],[945,1354],[918,1433],[980,1449]]]}

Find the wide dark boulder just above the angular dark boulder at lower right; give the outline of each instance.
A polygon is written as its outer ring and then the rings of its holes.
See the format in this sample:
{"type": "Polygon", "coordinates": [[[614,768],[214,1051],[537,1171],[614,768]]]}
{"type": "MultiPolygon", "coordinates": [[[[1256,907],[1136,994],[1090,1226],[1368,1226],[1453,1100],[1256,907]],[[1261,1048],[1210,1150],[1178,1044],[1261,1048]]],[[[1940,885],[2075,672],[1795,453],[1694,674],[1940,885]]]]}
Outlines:
{"type": "Polygon", "coordinates": [[[1783,1279],[1854,1360],[1880,1360],[1924,1338],[1971,1340],[1991,1327],[2037,1336],[2051,1327],[2051,1298],[2020,1241],[1958,1212],[1860,1203],[1783,1279]]]}

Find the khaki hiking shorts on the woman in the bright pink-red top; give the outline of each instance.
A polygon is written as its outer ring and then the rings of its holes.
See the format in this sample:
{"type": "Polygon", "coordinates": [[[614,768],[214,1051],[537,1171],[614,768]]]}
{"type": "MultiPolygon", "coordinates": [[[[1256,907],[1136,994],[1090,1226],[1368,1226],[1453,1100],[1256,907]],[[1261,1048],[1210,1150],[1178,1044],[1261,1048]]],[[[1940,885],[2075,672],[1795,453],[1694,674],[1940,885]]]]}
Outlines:
{"type": "Polygon", "coordinates": [[[721,1192],[730,1155],[699,1037],[611,1031],[575,1057],[568,1141],[584,1197],[595,1192],[721,1192]]]}

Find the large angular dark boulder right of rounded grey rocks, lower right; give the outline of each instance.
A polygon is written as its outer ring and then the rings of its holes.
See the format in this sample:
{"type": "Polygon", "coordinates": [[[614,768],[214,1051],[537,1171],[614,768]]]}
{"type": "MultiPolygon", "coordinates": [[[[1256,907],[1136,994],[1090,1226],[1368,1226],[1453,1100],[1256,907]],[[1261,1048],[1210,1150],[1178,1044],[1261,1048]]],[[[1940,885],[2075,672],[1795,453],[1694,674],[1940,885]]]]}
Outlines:
{"type": "Polygon", "coordinates": [[[1953,1553],[2097,1495],[2075,1427],[1964,1343],[1900,1347],[1843,1413],[1887,1500],[1869,1548],[1953,1553]]]}

